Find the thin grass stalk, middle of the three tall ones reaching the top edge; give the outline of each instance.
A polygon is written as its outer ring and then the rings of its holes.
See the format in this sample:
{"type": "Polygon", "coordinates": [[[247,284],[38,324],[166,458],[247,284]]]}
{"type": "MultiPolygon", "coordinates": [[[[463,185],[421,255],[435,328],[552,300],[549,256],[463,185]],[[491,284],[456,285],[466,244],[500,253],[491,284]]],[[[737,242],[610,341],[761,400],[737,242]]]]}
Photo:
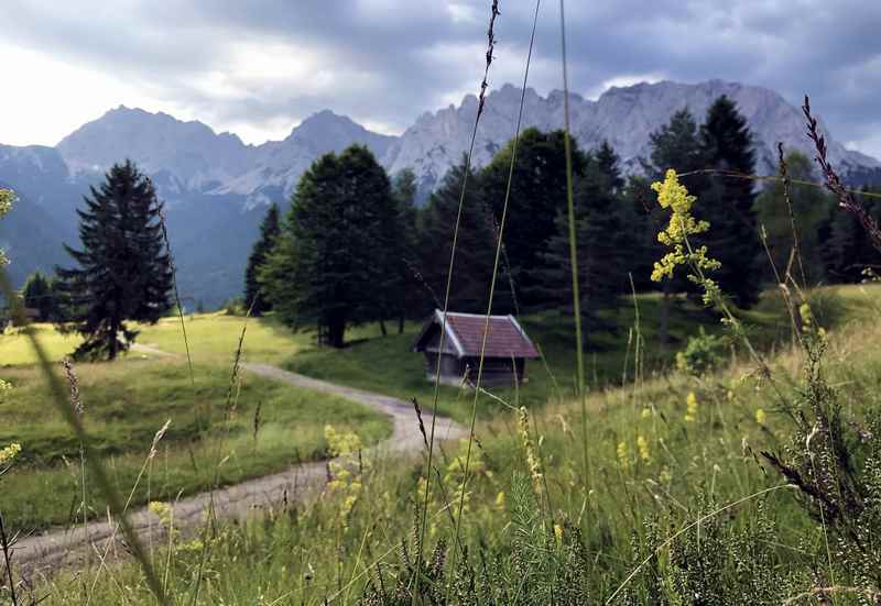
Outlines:
{"type": "MultiPolygon", "coordinates": [[[[514,137],[511,143],[511,164],[508,168],[508,183],[504,189],[504,201],[502,203],[502,216],[499,220],[499,231],[496,236],[496,255],[492,264],[492,277],[490,278],[490,286],[489,286],[489,300],[487,301],[487,313],[483,319],[483,337],[480,343],[480,359],[477,365],[477,382],[475,384],[475,397],[471,404],[471,419],[469,423],[468,430],[468,447],[466,449],[465,454],[465,467],[463,471],[463,486],[461,486],[461,495],[459,496],[459,507],[458,507],[458,515],[456,516],[456,536],[455,542],[453,544],[453,565],[452,570],[456,570],[456,559],[458,555],[458,543],[459,543],[459,536],[461,531],[461,518],[463,513],[465,509],[465,495],[468,492],[468,471],[469,465],[471,463],[471,450],[474,448],[475,441],[475,423],[477,421],[477,404],[480,399],[480,384],[483,378],[483,362],[486,359],[487,353],[487,341],[489,339],[489,319],[492,315],[492,299],[496,295],[496,282],[499,275],[499,261],[501,258],[502,253],[502,242],[504,241],[504,225],[505,221],[508,220],[508,205],[511,199],[511,184],[514,179],[514,167],[516,166],[516,153],[518,153],[518,144],[520,143],[520,129],[523,124],[523,106],[526,99],[526,86],[529,84],[530,78],[530,64],[532,63],[532,49],[535,44],[535,29],[539,23],[539,11],[541,9],[542,2],[541,0],[535,1],[535,11],[532,18],[532,32],[530,33],[530,45],[529,51],[526,52],[526,66],[523,70],[523,87],[520,91],[520,107],[518,108],[516,114],[516,125],[514,126],[514,137]]],[[[494,7],[493,7],[494,10],[494,7]]],[[[443,350],[442,350],[443,351],[443,350]]],[[[514,371],[516,372],[516,371],[514,371]]],[[[452,583],[447,583],[447,602],[449,602],[449,592],[452,590],[452,583]]]]}

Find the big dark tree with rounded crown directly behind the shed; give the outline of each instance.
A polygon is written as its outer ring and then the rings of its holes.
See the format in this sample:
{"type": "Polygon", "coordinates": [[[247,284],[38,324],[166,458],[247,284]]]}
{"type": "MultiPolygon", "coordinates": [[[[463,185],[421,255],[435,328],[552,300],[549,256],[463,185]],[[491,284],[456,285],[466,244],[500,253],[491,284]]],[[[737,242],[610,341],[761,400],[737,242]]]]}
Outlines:
{"type": "MultiPolygon", "coordinates": [[[[580,176],[585,154],[573,147],[573,172],[580,176]]],[[[492,158],[481,173],[482,195],[492,210],[496,222],[501,221],[511,169],[513,141],[492,158]]],[[[566,208],[565,133],[540,132],[526,129],[520,135],[516,162],[510,184],[508,217],[504,227],[505,261],[525,307],[542,307],[541,284],[535,283],[535,269],[557,231],[556,217],[566,208]]]]}

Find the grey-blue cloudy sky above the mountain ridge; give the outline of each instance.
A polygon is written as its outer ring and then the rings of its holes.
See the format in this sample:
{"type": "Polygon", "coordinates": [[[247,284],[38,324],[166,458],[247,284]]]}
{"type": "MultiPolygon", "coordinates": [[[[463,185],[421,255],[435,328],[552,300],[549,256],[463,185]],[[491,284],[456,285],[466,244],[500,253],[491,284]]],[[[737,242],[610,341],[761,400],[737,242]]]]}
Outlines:
{"type": "MultiPolygon", "coordinates": [[[[399,133],[482,74],[490,0],[2,0],[0,143],[54,145],[121,103],[246,142],[329,108],[399,133]]],[[[522,80],[532,0],[501,0],[491,84],[522,80]]],[[[544,0],[532,85],[559,88],[544,0]]],[[[812,96],[881,157],[881,1],[591,0],[566,9],[572,88],[709,78],[812,96]]]]}

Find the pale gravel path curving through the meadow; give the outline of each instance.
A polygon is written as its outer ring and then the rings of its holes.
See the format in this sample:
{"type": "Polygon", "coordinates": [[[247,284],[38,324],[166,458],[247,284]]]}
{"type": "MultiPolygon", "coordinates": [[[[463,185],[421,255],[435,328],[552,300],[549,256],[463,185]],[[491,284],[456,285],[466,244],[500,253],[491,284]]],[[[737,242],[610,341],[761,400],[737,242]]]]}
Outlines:
{"type": "MultiPolygon", "coordinates": [[[[134,344],[131,349],[161,357],[177,357],[176,354],[150,345],[134,344]]],[[[416,453],[425,448],[413,406],[403,400],[307,377],[269,364],[246,362],[241,367],[255,375],[289,385],[340,396],[391,417],[392,436],[368,449],[365,453],[367,456],[416,453]]],[[[423,412],[422,417],[426,431],[431,431],[432,415],[423,412]]],[[[445,417],[437,417],[436,440],[458,439],[467,434],[467,428],[445,417]]],[[[218,518],[243,517],[251,511],[278,507],[285,502],[302,503],[313,498],[319,494],[319,488],[327,481],[327,460],[302,463],[280,473],[218,488],[213,494],[199,493],[182,498],[173,505],[175,527],[186,528],[199,524],[211,497],[218,518]]],[[[130,513],[129,520],[145,543],[162,535],[159,520],[145,507],[130,513]]],[[[85,527],[79,525],[63,530],[51,530],[43,535],[21,537],[15,544],[14,562],[22,572],[32,575],[48,574],[59,565],[75,565],[87,557],[95,560],[96,553],[105,553],[108,548],[112,558],[124,553],[120,537],[115,538],[115,530],[116,525],[102,520],[89,522],[85,527]]]]}

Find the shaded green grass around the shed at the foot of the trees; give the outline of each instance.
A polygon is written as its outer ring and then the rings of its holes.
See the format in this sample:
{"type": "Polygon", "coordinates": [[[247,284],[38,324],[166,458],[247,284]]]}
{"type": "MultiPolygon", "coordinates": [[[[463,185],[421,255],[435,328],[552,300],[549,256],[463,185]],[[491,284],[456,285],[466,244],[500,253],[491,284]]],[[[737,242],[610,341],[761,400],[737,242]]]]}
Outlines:
{"type": "MultiPolygon", "coordinates": [[[[743,312],[744,322],[769,345],[785,331],[783,311],[776,297],[769,295],[757,309],[743,312]]],[[[704,310],[686,299],[675,299],[671,305],[666,348],[659,346],[659,318],[661,298],[656,295],[640,295],[635,299],[640,315],[640,331],[643,340],[652,344],[642,352],[645,370],[663,371],[689,335],[699,324],[708,324],[709,332],[719,332],[718,322],[704,310]]],[[[632,379],[635,310],[632,300],[622,299],[613,318],[620,328],[613,333],[598,333],[590,341],[585,356],[585,372],[589,385],[620,384],[624,374],[632,379]],[[630,328],[629,328],[630,327],[630,328]]],[[[610,318],[611,319],[611,318],[610,318]]],[[[513,389],[496,388],[493,394],[526,406],[544,405],[548,398],[570,397],[575,384],[574,330],[572,319],[555,312],[543,312],[520,318],[531,339],[545,354],[545,361],[527,364],[529,382],[514,393],[513,389]]],[[[416,397],[423,407],[434,399],[434,386],[426,381],[421,354],[411,352],[420,324],[409,323],[404,334],[355,340],[349,346],[335,351],[329,349],[304,349],[284,359],[285,368],[318,378],[345,383],[383,394],[409,399],[416,397]]],[[[442,387],[438,409],[460,421],[470,418],[474,396],[470,390],[442,387]]],[[[488,419],[503,407],[492,398],[482,397],[479,418],[488,419]]]]}

